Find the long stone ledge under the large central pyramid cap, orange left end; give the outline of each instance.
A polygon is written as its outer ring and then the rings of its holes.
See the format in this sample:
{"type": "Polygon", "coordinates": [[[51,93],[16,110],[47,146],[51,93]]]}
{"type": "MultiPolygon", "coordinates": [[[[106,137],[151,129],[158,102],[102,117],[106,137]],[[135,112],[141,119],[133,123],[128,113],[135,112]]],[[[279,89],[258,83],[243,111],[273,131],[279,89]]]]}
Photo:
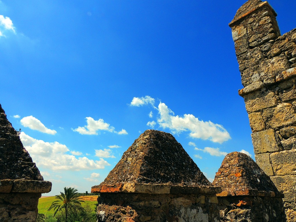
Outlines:
{"type": "Polygon", "coordinates": [[[141,193],[141,194],[217,194],[219,186],[180,186],[172,184],[119,183],[115,185],[97,185],[92,193],[141,193]]]}

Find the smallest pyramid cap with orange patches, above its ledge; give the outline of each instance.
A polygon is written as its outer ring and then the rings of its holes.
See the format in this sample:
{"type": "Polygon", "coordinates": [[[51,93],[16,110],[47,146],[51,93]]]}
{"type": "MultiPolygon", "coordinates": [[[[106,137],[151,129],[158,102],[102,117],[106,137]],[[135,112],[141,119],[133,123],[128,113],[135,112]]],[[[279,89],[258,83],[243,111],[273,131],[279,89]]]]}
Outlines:
{"type": "Polygon", "coordinates": [[[278,193],[274,183],[257,163],[240,152],[226,155],[213,185],[222,188],[223,196],[256,195],[258,192],[278,193]]]}

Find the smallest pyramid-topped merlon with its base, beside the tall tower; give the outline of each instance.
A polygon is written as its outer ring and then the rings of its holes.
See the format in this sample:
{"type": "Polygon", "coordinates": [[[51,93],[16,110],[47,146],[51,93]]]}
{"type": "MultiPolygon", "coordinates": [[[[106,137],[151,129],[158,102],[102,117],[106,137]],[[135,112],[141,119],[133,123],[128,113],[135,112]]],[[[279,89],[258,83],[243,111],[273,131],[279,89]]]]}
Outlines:
{"type": "Polygon", "coordinates": [[[220,186],[218,196],[221,222],[285,222],[283,195],[269,176],[244,153],[226,155],[213,185],[220,186]]]}

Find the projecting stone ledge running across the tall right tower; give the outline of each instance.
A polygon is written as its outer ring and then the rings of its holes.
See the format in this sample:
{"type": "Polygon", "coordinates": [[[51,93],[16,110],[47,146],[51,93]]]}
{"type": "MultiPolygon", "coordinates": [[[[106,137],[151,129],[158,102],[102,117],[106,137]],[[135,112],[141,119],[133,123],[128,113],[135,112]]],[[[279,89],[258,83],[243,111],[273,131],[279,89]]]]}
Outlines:
{"type": "MultiPolygon", "coordinates": [[[[280,73],[279,75],[277,75],[276,79],[275,79],[275,83],[279,83],[281,81],[285,81],[285,80],[288,80],[293,77],[296,77],[296,67],[287,69],[287,70],[283,71],[282,73],[280,73]]],[[[263,84],[263,82],[260,82],[260,81],[255,82],[255,83],[252,83],[252,84],[244,87],[243,89],[239,89],[239,95],[244,96],[244,95],[249,94],[251,92],[262,89],[262,88],[264,88],[264,86],[268,86],[268,85],[272,85],[272,84],[274,84],[274,83],[263,84]]]]}

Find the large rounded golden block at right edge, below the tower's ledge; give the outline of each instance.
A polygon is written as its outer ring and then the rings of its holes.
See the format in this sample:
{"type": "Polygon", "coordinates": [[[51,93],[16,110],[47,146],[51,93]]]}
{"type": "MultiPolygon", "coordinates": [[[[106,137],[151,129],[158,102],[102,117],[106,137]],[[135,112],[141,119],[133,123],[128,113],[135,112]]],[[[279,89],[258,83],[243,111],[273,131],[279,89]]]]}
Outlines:
{"type": "Polygon", "coordinates": [[[263,110],[263,119],[267,128],[291,126],[296,123],[296,113],[292,104],[281,103],[274,108],[263,110]]]}

